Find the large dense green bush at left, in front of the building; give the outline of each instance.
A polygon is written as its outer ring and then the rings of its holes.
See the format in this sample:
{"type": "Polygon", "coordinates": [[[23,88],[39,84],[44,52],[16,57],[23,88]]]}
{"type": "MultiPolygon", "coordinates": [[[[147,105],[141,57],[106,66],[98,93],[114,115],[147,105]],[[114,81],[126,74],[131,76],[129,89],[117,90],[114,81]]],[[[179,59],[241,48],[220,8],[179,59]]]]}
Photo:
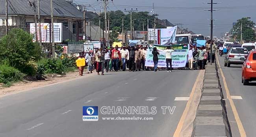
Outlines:
{"type": "Polygon", "coordinates": [[[41,47],[32,40],[30,33],[22,29],[12,29],[0,39],[0,63],[4,62],[28,75],[35,75],[36,70],[33,68],[37,67],[32,62],[41,57],[41,47]]]}

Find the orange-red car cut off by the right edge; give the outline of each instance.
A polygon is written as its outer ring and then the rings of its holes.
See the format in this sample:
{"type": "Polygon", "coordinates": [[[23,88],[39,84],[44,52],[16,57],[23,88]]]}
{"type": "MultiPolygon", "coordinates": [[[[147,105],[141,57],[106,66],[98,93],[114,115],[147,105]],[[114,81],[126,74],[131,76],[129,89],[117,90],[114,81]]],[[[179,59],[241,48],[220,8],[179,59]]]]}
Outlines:
{"type": "Polygon", "coordinates": [[[242,67],[242,83],[248,85],[249,81],[256,81],[256,49],[249,52],[247,58],[241,58],[242,67]]]}

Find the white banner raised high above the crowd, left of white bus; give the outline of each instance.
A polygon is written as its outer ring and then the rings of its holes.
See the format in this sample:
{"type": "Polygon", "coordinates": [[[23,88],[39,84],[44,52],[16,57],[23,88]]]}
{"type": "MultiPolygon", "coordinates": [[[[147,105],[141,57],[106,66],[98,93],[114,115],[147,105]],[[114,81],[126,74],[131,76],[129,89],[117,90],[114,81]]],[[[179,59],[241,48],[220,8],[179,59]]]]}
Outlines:
{"type": "Polygon", "coordinates": [[[167,27],[166,29],[158,29],[158,44],[159,45],[169,45],[170,43],[175,43],[177,26],[167,27]]]}

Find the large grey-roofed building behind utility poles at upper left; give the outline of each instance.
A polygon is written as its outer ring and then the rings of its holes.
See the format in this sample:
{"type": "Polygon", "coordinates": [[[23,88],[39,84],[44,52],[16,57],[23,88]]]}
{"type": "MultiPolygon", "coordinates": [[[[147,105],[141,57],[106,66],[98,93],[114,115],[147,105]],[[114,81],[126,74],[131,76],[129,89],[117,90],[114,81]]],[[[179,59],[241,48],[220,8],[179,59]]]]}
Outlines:
{"type": "MultiPolygon", "coordinates": [[[[5,0],[0,0],[0,36],[6,34],[5,0]]],[[[34,0],[31,0],[34,2],[34,0]]],[[[37,14],[37,0],[35,0],[37,14]]],[[[63,23],[63,40],[78,41],[83,38],[83,9],[72,0],[53,0],[55,23],[63,23]]],[[[41,23],[51,22],[50,0],[40,0],[41,23]]],[[[86,12],[86,39],[99,40],[99,27],[91,24],[97,17],[95,12],[86,12]]],[[[30,31],[30,23],[35,23],[34,9],[29,0],[8,0],[8,29],[18,27],[30,31]]],[[[103,37],[103,31],[101,30],[103,37]]]]}

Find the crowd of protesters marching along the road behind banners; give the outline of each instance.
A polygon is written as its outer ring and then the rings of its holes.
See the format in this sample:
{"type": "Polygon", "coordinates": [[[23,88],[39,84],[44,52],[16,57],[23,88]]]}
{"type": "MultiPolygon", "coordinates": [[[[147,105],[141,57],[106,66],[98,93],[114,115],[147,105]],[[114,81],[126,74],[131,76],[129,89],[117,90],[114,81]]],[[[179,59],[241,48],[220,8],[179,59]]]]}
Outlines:
{"type": "MultiPolygon", "coordinates": [[[[210,62],[210,45],[211,41],[207,41],[206,46],[197,47],[190,46],[187,54],[187,64],[186,67],[189,70],[193,69],[205,69],[205,65],[210,62]]],[[[137,45],[136,47],[115,47],[111,48],[99,48],[95,49],[95,53],[89,52],[84,56],[83,52],[80,52],[79,58],[85,58],[87,73],[93,73],[96,70],[98,75],[104,75],[104,72],[109,71],[141,71],[146,70],[145,61],[147,56],[147,46],[137,45]]],[[[166,70],[167,72],[172,72],[172,52],[174,49],[167,46],[165,51],[166,58],[166,70]]],[[[212,42],[212,62],[215,60],[215,52],[217,52],[217,46],[212,42]]],[[[158,70],[158,56],[160,52],[153,48],[153,62],[154,67],[152,70],[158,70]]],[[[79,68],[80,76],[84,67],[79,68]]]]}

